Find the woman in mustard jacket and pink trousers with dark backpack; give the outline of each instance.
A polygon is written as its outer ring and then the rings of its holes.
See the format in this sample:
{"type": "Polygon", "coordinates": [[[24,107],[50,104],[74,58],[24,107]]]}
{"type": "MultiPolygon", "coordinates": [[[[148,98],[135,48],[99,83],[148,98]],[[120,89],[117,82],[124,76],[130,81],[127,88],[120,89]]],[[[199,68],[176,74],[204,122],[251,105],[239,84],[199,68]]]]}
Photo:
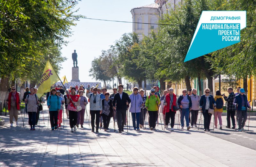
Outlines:
{"type": "Polygon", "coordinates": [[[216,91],[216,96],[214,97],[214,100],[216,101],[216,108],[214,109],[214,129],[217,129],[217,124],[218,124],[218,119],[219,119],[219,124],[220,124],[220,129],[222,129],[222,119],[221,119],[221,114],[223,112],[223,105],[224,105],[224,100],[223,97],[221,96],[220,91],[216,91]]]}

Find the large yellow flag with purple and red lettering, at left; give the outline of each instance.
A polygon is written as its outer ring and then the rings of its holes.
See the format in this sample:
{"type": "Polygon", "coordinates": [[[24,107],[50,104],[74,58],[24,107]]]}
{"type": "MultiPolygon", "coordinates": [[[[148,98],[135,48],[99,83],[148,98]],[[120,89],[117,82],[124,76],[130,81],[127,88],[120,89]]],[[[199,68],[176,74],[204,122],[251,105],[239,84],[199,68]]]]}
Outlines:
{"type": "Polygon", "coordinates": [[[53,69],[49,60],[47,60],[42,78],[38,83],[38,90],[36,95],[40,98],[45,92],[49,91],[51,86],[60,80],[58,74],[53,69]]]}

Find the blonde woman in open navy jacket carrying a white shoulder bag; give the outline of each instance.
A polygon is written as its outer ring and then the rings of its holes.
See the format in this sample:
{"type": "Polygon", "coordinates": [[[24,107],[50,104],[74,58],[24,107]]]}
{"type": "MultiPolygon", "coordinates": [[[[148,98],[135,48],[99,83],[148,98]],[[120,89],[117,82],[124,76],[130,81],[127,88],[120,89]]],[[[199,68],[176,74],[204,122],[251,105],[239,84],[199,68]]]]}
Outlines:
{"type": "Polygon", "coordinates": [[[215,109],[216,108],[216,102],[212,95],[210,95],[210,89],[205,88],[204,89],[204,95],[200,98],[200,110],[203,112],[204,116],[204,131],[210,131],[210,123],[212,114],[208,113],[209,108],[215,109]],[[214,106],[214,107],[213,107],[214,106]]]}

